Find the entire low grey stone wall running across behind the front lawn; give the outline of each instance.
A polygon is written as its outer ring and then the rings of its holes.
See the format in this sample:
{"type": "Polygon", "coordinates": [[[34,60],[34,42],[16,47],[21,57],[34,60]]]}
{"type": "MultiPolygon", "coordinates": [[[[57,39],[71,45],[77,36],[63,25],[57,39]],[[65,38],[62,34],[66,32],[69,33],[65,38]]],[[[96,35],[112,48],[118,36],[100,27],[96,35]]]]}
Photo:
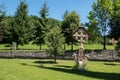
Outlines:
{"type": "MultiPolygon", "coordinates": [[[[58,59],[73,59],[72,54],[76,53],[74,51],[66,51],[63,56],[58,56],[58,59]]],[[[85,56],[89,60],[98,60],[98,61],[120,61],[117,51],[115,50],[85,50],[85,56]]],[[[40,52],[0,52],[0,58],[48,58],[49,54],[45,51],[40,52]]]]}

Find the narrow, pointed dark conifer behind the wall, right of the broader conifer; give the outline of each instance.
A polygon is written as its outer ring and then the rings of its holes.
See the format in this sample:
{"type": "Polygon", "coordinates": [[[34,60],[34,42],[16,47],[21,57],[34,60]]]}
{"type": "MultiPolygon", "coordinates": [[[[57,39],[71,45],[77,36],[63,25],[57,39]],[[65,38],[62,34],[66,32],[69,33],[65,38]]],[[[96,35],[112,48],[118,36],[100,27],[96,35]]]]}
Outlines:
{"type": "Polygon", "coordinates": [[[40,45],[40,50],[42,49],[42,44],[45,43],[44,37],[46,32],[48,31],[48,7],[47,4],[44,3],[42,9],[40,10],[40,18],[36,19],[36,29],[35,29],[35,36],[34,36],[34,42],[37,45],[40,45]]]}

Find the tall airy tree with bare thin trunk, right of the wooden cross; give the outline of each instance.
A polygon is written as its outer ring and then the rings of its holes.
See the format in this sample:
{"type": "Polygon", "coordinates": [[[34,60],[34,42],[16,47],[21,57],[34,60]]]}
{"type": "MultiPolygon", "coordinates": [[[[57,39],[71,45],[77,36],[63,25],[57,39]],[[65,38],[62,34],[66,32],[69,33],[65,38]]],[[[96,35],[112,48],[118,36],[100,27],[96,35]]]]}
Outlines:
{"type": "Polygon", "coordinates": [[[106,35],[108,31],[111,10],[112,0],[97,0],[97,2],[94,2],[92,5],[92,11],[95,15],[95,20],[98,22],[101,34],[103,36],[103,49],[106,49],[106,35]]]}

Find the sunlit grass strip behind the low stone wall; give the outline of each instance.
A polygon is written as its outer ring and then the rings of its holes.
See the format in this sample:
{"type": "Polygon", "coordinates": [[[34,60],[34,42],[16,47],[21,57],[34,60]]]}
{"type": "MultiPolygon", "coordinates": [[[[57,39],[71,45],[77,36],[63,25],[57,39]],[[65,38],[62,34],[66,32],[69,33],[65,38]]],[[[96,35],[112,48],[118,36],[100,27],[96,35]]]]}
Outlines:
{"type": "MultiPolygon", "coordinates": [[[[64,45],[63,45],[64,47],[64,45]]],[[[10,50],[10,46],[8,44],[0,44],[0,51],[2,50],[10,50]]],[[[35,45],[35,44],[26,44],[24,46],[19,45],[19,50],[39,50],[40,46],[35,45]]],[[[79,48],[78,45],[74,45],[73,49],[76,50],[79,48]]],[[[107,45],[106,49],[108,50],[114,50],[115,46],[114,45],[107,45]]],[[[47,45],[42,45],[42,50],[47,49],[47,45]]],[[[90,49],[90,50],[101,50],[103,49],[102,44],[84,44],[84,49],[90,49]]],[[[66,50],[71,50],[71,45],[66,45],[66,50]]]]}

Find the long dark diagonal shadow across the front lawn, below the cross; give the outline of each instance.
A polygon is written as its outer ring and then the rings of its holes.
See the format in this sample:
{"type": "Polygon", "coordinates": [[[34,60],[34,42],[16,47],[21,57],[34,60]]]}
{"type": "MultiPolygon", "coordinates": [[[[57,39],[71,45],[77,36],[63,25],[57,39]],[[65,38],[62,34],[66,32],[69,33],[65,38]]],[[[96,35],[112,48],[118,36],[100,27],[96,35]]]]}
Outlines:
{"type": "Polygon", "coordinates": [[[47,67],[44,65],[29,65],[26,63],[21,63],[21,65],[48,69],[48,70],[53,70],[58,72],[64,72],[68,74],[76,74],[80,76],[91,77],[91,78],[102,79],[102,80],[120,80],[120,73],[94,72],[94,71],[88,71],[88,70],[79,71],[77,69],[73,69],[72,66],[66,66],[66,65],[55,65],[53,67],[47,67]]]}

